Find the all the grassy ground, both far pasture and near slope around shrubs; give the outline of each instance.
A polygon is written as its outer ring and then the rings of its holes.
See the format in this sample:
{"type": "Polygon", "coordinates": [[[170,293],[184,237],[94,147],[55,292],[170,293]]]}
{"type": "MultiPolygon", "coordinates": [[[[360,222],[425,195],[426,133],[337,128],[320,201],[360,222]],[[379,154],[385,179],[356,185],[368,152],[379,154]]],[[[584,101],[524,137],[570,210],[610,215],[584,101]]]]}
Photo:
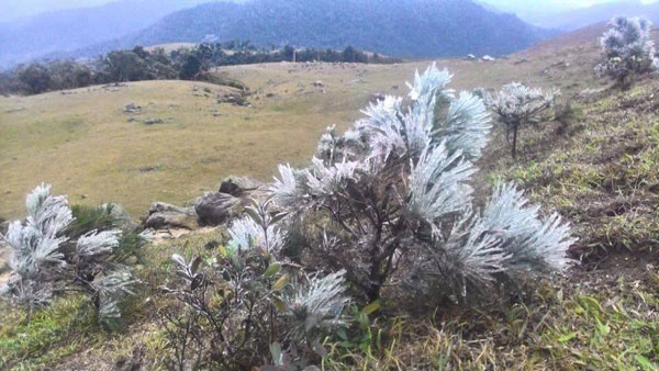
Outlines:
{"type": "MultiPolygon", "coordinates": [[[[603,85],[592,74],[599,33],[601,27],[583,30],[492,64],[439,64],[456,74],[458,89],[499,88],[520,80],[559,87],[571,98],[603,85]]],[[[11,193],[2,194],[0,210],[21,215],[23,194],[41,180],[55,182],[55,191],[69,193],[74,202],[112,200],[142,213],[154,199],[189,200],[213,188],[223,175],[268,179],[277,162],[308,159],[326,125],[358,117],[358,109],[375,91],[404,91],[410,72],[425,65],[278,64],[217,70],[250,87],[252,108],[217,105],[214,95],[224,88],[180,81],[2,98],[0,132],[9,134],[0,137],[0,145],[9,156],[0,159],[0,169],[5,171],[2,187],[11,193]],[[313,87],[316,80],[324,87],[313,87]],[[211,89],[208,98],[204,88],[211,89]],[[129,123],[122,109],[130,102],[144,108],[136,120],[157,116],[165,122],[129,123]],[[8,112],[16,108],[24,110],[8,112]],[[158,164],[156,170],[139,171],[158,164]],[[80,200],[80,194],[88,196],[80,200]]],[[[576,98],[567,124],[550,122],[523,132],[516,161],[495,132],[479,164],[489,173],[483,182],[516,180],[544,210],[569,218],[581,239],[574,258],[582,258],[583,265],[567,278],[534,282],[522,297],[480,308],[448,303],[424,312],[418,303],[384,303],[388,316],[371,317],[348,340],[325,341],[323,366],[656,370],[657,94],[655,76],[629,91],[610,89],[576,98]]],[[[204,246],[221,238],[215,231],[144,248],[136,265],[144,290],[115,331],[93,325],[76,295],[62,296],[53,307],[34,313],[0,302],[0,368],[165,369],[169,340],[158,311],[169,302],[158,288],[175,271],[169,256],[211,257],[204,246]]]]}

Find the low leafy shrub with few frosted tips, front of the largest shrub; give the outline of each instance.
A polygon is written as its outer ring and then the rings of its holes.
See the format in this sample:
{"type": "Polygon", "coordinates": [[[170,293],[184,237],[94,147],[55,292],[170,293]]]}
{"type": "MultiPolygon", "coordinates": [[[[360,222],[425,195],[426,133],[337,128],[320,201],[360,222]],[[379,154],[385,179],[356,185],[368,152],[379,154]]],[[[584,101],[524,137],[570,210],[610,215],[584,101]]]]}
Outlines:
{"type": "Polygon", "coordinates": [[[182,304],[163,312],[172,368],[247,370],[270,363],[277,348],[289,369],[302,369],[320,357],[323,335],[345,325],[344,272],[308,276],[280,260],[284,214],[268,206],[250,206],[205,262],[172,257],[178,280],[164,290],[182,304]]]}

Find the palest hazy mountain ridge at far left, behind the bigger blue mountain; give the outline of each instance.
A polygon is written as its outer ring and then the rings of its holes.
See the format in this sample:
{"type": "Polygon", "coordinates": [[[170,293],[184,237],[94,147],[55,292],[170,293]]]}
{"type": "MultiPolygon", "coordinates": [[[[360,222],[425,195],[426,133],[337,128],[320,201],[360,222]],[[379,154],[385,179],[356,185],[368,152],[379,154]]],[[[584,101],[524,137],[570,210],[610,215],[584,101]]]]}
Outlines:
{"type": "Polygon", "coordinates": [[[0,24],[0,68],[121,37],[208,0],[121,0],[0,24]]]}

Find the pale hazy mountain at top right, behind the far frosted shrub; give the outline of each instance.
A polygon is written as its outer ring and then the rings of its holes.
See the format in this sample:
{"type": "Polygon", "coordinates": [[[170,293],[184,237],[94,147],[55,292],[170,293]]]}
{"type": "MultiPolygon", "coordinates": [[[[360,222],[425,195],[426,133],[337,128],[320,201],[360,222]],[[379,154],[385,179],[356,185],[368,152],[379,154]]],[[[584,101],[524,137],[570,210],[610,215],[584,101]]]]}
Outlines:
{"type": "Polygon", "coordinates": [[[608,21],[615,15],[644,15],[659,24],[659,3],[644,4],[638,0],[602,3],[554,14],[534,13],[526,15],[525,21],[541,27],[572,31],[608,21]]]}

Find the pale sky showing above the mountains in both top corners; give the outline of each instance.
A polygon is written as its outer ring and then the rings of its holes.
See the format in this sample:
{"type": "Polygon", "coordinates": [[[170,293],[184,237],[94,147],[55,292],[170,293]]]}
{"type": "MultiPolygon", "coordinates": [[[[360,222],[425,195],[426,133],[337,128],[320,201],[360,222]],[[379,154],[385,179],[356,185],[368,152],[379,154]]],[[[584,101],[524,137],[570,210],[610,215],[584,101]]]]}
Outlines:
{"type": "MultiPolygon", "coordinates": [[[[46,11],[94,7],[115,0],[0,0],[0,22],[35,15],[46,11]]],[[[139,0],[131,0],[139,1],[139,0]]],[[[212,1],[212,0],[209,0],[212,1]]],[[[496,8],[515,13],[543,12],[550,10],[568,10],[589,7],[595,3],[624,0],[480,0],[496,8]]],[[[655,2],[658,0],[643,0],[655,2]]]]}

